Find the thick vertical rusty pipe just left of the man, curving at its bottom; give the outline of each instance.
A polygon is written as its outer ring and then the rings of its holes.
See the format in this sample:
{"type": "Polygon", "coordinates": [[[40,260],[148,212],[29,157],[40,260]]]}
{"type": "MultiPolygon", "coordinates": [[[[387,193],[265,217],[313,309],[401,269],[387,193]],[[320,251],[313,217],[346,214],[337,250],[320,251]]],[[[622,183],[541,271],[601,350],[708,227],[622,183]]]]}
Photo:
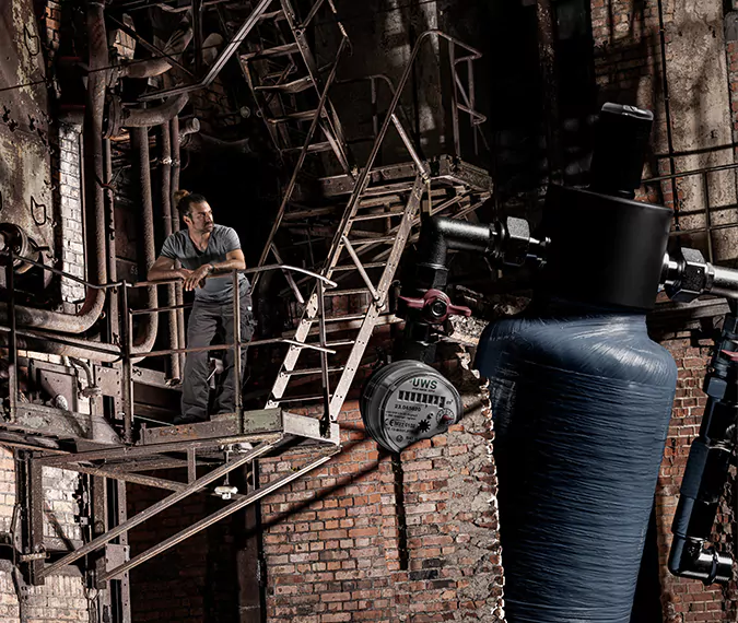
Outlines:
{"type": "MultiPolygon", "coordinates": [[[[143,237],[143,259],[145,262],[143,274],[148,272],[151,265],[156,259],[156,247],[154,242],[154,209],[151,199],[151,164],[149,162],[149,129],[131,129],[131,149],[137,157],[139,169],[139,180],[141,188],[141,210],[142,214],[142,237],[143,237]]],[[[156,286],[147,287],[145,307],[151,309],[159,306],[159,296],[156,286]]],[[[139,331],[133,341],[131,353],[143,353],[153,349],[156,341],[156,331],[159,329],[159,314],[147,314],[147,318],[139,326],[139,331]]],[[[139,360],[140,361],[140,360],[139,360]]],[[[136,363],[136,360],[133,360],[136,363]]]]}

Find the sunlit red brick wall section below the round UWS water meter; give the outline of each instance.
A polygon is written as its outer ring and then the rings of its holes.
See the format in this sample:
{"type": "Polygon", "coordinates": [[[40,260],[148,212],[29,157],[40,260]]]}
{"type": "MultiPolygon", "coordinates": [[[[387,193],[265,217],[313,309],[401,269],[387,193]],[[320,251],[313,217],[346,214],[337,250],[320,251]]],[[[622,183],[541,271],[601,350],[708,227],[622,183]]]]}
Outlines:
{"type": "MultiPolygon", "coordinates": [[[[270,623],[497,620],[489,431],[478,399],[461,424],[395,465],[366,437],[355,402],[339,421],[343,451],[262,505],[270,623]]],[[[262,461],[263,482],[313,456],[262,461]]]]}

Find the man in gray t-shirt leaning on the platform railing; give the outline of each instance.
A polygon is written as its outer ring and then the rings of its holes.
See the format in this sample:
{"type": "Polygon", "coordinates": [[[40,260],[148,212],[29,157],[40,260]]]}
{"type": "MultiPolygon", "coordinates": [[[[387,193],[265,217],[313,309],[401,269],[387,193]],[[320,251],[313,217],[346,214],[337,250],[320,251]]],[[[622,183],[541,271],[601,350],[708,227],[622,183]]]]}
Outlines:
{"type": "MultiPolygon", "coordinates": [[[[213,213],[201,195],[178,191],[175,193],[177,211],[187,230],[172,234],[162,252],[149,270],[150,281],[181,278],[185,290],[195,291],[195,304],[187,327],[187,346],[208,346],[220,329],[226,344],[233,343],[233,274],[246,268],[238,235],[231,227],[215,225],[213,213]],[[178,260],[181,268],[176,268],[178,260]],[[222,275],[213,274],[224,272],[222,275]]],[[[241,338],[254,337],[250,284],[239,274],[241,338]]],[[[215,403],[215,413],[231,413],[235,409],[234,351],[223,351],[225,381],[215,403]]],[[[246,348],[242,349],[241,369],[245,371],[246,348]]],[[[208,351],[187,353],[183,378],[181,414],[175,424],[208,420],[209,387],[208,351]]]]}

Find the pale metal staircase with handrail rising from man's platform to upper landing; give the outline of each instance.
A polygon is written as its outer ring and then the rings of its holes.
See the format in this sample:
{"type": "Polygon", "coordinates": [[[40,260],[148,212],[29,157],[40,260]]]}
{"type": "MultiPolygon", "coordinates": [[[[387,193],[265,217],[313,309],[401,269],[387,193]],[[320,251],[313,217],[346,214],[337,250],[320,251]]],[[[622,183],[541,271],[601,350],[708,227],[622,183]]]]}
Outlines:
{"type": "MultiPolygon", "coordinates": [[[[455,78],[452,97],[456,106],[454,130],[458,132],[458,110],[467,113],[471,119],[475,144],[477,143],[477,126],[483,117],[466,105],[473,101],[473,96],[467,95],[456,74],[455,63],[470,62],[479,55],[472,48],[441,32],[429,31],[415,44],[398,89],[393,89],[391,103],[385,113],[367,163],[356,179],[350,175],[343,175],[321,180],[326,196],[335,193],[340,198],[341,195],[348,193],[349,198],[345,203],[294,209],[292,199],[303,162],[298,160],[261,255],[260,265],[268,261],[270,254],[278,260],[282,257],[283,254],[277,250],[276,239],[284,230],[290,231],[293,237],[295,234],[298,235],[301,232],[295,227],[295,223],[300,223],[303,235],[323,234],[325,238],[330,239],[330,244],[326,245],[325,257],[316,259],[314,249],[311,249],[311,268],[326,279],[340,280],[353,286],[330,292],[325,290],[321,282],[318,282],[312,290],[292,336],[293,342],[289,346],[271,388],[266,403],[268,409],[317,401],[324,405],[324,427],[327,427],[329,422],[336,422],[361,366],[374,328],[386,321],[389,287],[400,256],[407,243],[413,238],[413,226],[420,223],[421,205],[424,205],[424,210],[432,214],[444,213],[464,218],[473,212],[491,192],[491,183],[485,173],[462,163],[456,157],[458,154],[432,162],[424,161],[399,118],[400,96],[411,74],[412,64],[423,43],[433,36],[446,39],[452,50],[460,46],[469,52],[467,57],[461,58],[455,58],[453,51],[450,54],[450,58],[454,59],[452,68],[455,78]],[[459,98],[466,104],[459,105],[459,98]],[[397,165],[375,167],[374,163],[390,126],[396,130],[405,148],[407,161],[397,165]],[[423,202],[423,197],[426,197],[425,202],[423,202]],[[373,226],[375,224],[379,226],[373,226]],[[362,294],[370,298],[368,305],[362,313],[326,314],[328,297],[350,297],[362,294]],[[317,342],[311,339],[316,332],[313,330],[315,322],[318,324],[317,342]],[[340,331],[341,338],[328,340],[327,334],[330,329],[339,327],[343,329],[340,331]],[[319,354],[320,366],[297,367],[302,353],[313,345],[323,349],[319,354]],[[319,395],[301,396],[291,391],[292,386],[306,385],[306,377],[318,375],[321,387],[319,395]],[[336,379],[336,375],[340,376],[331,387],[330,380],[336,379]]],[[[321,104],[328,102],[327,89],[329,87],[330,82],[324,91],[321,104]]],[[[323,110],[318,107],[314,120],[320,114],[323,110]]],[[[308,152],[311,139],[308,133],[301,156],[308,152]]],[[[458,136],[455,136],[455,144],[459,146],[458,136]]],[[[300,282],[290,283],[297,299],[302,302],[304,297],[300,291],[301,284],[300,282]]]]}

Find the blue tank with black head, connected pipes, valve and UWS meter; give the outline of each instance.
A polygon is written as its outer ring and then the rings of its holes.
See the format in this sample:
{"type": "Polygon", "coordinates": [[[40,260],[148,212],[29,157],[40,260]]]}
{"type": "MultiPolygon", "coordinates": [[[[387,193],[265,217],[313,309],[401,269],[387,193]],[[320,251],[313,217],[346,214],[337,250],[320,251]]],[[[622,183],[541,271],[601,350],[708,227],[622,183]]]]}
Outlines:
{"type": "Polygon", "coordinates": [[[738,422],[738,271],[695,249],[667,251],[672,212],[634,201],[653,115],[602,108],[587,189],[552,185],[540,233],[426,218],[399,312],[395,361],[364,387],[367,431],[399,451],[461,416],[458,392],[429,364],[452,304],[449,249],[537,274],[531,305],[484,330],[476,367],[490,380],[508,620],[630,621],[677,383],[646,333],[659,289],[678,302],[726,296],[730,314],[704,384],[708,397],[673,521],[672,574],[727,581],[710,543],[738,422]],[[576,577],[576,581],[572,578],[576,577]]]}

